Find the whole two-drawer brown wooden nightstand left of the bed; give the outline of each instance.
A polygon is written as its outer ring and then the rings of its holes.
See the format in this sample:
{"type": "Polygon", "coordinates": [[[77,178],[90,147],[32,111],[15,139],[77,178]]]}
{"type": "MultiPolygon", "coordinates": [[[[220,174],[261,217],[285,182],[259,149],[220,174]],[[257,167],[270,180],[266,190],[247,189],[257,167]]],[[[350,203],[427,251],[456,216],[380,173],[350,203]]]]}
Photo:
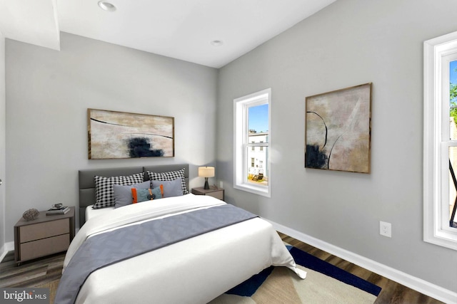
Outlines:
{"type": "Polygon", "coordinates": [[[74,207],[66,214],[41,211],[33,221],[20,219],[14,225],[14,259],[21,262],[66,251],[74,238],[74,207]]]}

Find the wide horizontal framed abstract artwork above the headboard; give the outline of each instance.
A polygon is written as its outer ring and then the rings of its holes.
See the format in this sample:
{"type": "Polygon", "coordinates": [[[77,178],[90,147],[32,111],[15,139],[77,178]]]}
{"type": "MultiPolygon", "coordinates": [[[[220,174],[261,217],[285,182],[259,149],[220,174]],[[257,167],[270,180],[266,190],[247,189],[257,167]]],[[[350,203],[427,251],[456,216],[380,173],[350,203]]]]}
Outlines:
{"type": "Polygon", "coordinates": [[[88,109],[89,159],[174,157],[174,117],[88,109]]]}

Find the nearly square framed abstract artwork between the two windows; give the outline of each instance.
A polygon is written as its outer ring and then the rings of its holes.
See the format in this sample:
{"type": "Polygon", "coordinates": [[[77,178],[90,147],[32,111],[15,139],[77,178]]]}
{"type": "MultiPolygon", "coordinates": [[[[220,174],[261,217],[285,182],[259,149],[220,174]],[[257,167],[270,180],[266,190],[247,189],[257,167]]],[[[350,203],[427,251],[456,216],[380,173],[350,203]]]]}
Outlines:
{"type": "Polygon", "coordinates": [[[371,83],[306,98],[305,167],[370,172],[371,83]]]}

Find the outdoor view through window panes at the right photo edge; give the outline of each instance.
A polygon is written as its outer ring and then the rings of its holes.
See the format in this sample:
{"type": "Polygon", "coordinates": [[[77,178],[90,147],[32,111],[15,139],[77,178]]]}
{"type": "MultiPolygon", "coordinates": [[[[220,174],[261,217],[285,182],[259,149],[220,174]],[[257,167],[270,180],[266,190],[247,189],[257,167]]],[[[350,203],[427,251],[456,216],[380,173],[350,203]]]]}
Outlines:
{"type": "MultiPolygon", "coordinates": [[[[449,140],[457,140],[457,61],[449,63],[449,140]]],[[[457,228],[457,147],[449,147],[449,226],[457,228]]]]}

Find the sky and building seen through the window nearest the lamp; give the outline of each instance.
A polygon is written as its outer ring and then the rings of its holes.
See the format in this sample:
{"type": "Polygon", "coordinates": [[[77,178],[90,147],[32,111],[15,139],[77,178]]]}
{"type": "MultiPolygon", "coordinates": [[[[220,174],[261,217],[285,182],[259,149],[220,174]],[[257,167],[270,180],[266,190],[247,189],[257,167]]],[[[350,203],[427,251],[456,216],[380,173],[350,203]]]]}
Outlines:
{"type": "Polygon", "coordinates": [[[268,103],[248,108],[248,182],[268,185],[268,103]]]}

